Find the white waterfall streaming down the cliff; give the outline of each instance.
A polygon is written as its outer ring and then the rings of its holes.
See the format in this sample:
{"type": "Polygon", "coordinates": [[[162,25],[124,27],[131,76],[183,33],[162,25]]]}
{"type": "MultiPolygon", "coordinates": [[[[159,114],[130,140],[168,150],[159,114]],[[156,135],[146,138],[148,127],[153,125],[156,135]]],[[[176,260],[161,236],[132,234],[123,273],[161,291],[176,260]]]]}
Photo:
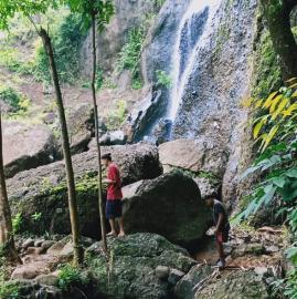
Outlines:
{"type": "Polygon", "coordinates": [[[172,87],[167,118],[174,122],[197,55],[211,38],[213,19],[222,0],[192,0],[181,19],[172,56],[172,87]]]}

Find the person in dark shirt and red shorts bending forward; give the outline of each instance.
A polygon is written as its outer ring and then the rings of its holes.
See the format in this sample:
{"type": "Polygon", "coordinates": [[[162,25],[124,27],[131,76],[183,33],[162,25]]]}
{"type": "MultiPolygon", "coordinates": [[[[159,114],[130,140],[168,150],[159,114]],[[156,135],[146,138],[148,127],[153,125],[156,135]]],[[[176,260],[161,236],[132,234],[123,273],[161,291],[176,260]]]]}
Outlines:
{"type": "Polygon", "coordinates": [[[215,244],[220,259],[218,261],[219,268],[225,267],[225,252],[223,244],[229,240],[230,223],[225,206],[216,199],[215,195],[208,196],[205,204],[213,212],[213,221],[215,225],[215,244]]]}

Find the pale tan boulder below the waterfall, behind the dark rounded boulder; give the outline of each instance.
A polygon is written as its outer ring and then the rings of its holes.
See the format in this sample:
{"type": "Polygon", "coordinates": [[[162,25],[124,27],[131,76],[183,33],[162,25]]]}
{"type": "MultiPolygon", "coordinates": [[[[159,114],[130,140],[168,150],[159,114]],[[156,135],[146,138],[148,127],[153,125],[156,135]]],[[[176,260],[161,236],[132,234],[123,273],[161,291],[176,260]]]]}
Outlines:
{"type": "Polygon", "coordinates": [[[223,148],[209,138],[181,138],[159,146],[165,172],[185,171],[199,185],[202,197],[219,193],[227,161],[223,148]]]}

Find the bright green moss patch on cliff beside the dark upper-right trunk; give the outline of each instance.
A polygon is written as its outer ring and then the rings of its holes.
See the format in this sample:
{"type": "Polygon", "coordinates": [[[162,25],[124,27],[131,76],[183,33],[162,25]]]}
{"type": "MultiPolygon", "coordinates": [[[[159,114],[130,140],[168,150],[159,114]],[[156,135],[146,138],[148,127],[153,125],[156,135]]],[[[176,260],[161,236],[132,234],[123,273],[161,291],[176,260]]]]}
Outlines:
{"type": "Polygon", "coordinates": [[[261,34],[254,56],[253,96],[266,97],[272,91],[282,86],[280,66],[267,31],[261,34]]]}

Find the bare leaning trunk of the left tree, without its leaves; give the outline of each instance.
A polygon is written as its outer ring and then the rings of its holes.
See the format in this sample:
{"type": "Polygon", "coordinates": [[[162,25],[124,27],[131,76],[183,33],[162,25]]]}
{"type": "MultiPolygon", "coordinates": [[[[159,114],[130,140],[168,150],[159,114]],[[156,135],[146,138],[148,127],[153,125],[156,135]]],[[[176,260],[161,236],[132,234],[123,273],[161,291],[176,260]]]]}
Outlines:
{"type": "Polygon", "coordinates": [[[81,245],[74,172],[73,172],[73,165],[72,165],[65,110],[63,105],[63,96],[61,92],[59,74],[57,74],[57,69],[56,69],[56,64],[54,60],[54,52],[53,52],[51,38],[49,37],[47,32],[44,29],[41,29],[39,33],[40,33],[40,37],[42,38],[43,45],[49,58],[50,70],[51,70],[52,80],[53,80],[53,84],[55,89],[56,106],[57,106],[59,120],[60,120],[60,126],[61,126],[61,133],[62,133],[62,146],[63,146],[66,179],[67,179],[68,207],[70,207],[73,246],[74,246],[74,261],[76,265],[81,265],[84,259],[84,252],[83,252],[83,247],[81,245]]]}

